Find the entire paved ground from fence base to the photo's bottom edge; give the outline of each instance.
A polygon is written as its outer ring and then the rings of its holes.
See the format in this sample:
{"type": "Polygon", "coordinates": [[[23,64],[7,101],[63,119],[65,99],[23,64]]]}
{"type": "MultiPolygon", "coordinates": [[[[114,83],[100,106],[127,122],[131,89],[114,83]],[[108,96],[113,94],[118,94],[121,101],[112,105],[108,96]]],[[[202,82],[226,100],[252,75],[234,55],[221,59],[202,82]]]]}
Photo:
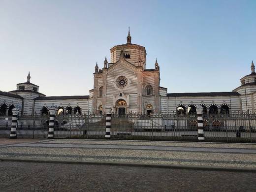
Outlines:
{"type": "Polygon", "coordinates": [[[256,144],[0,139],[1,191],[254,191],[256,144]]]}

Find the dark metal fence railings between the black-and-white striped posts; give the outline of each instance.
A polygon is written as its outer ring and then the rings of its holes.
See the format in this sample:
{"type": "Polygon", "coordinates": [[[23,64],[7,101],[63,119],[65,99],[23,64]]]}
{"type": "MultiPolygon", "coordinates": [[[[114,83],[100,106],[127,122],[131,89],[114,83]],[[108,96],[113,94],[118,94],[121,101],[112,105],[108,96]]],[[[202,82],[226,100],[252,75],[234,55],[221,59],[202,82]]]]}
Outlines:
{"type": "MultiPolygon", "coordinates": [[[[0,116],[0,137],[9,137],[11,116],[0,116]]],[[[105,138],[105,115],[55,117],[54,138],[105,138]]],[[[256,114],[203,115],[205,141],[256,142],[256,114]]],[[[47,138],[49,115],[18,116],[17,138],[47,138]]],[[[111,138],[197,140],[197,115],[112,115],[111,138]]]]}

